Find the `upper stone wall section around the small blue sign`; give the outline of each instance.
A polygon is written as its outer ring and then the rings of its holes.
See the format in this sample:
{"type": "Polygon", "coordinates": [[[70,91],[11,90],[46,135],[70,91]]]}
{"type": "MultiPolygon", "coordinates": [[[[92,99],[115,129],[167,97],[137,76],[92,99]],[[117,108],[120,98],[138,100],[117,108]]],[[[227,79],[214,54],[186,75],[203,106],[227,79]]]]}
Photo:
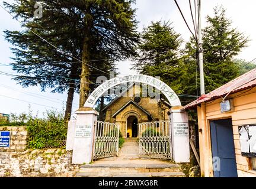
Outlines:
{"type": "Polygon", "coordinates": [[[22,152],[27,145],[27,130],[25,126],[0,126],[0,131],[11,131],[9,148],[0,148],[0,152],[22,152]]]}

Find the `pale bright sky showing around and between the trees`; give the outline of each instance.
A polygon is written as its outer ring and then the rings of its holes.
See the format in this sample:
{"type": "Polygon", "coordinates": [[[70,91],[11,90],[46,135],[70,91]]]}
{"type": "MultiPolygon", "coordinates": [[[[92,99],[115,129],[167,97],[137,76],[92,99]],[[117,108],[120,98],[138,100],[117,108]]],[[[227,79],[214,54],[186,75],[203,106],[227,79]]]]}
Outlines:
{"type": "MultiPolygon", "coordinates": [[[[13,2],[12,0],[6,0],[13,2]]],[[[2,0],[0,2],[2,4],[2,0]]],[[[194,2],[194,1],[191,1],[194,2]]],[[[178,0],[180,8],[184,13],[192,29],[192,21],[188,0],[178,0]]],[[[256,1],[255,0],[201,0],[201,17],[202,28],[206,26],[206,15],[213,15],[213,8],[216,5],[223,5],[226,8],[227,17],[232,19],[233,27],[244,32],[249,37],[248,47],[239,54],[237,58],[242,58],[251,61],[256,57],[256,26],[254,19],[256,18],[256,1]]],[[[137,21],[139,21],[138,30],[142,31],[143,27],[150,24],[151,21],[171,21],[174,30],[181,34],[184,41],[188,41],[190,32],[178,11],[173,0],[137,0],[133,5],[137,9],[137,21]]],[[[11,15],[0,7],[0,63],[9,64],[12,62],[10,57],[13,57],[9,47],[11,45],[4,39],[4,30],[20,30],[20,23],[12,19],[11,15]]],[[[129,60],[120,61],[117,66],[120,74],[136,73],[131,70],[132,62],[129,60]]],[[[5,73],[16,74],[11,67],[0,65],[0,70],[5,73]]],[[[45,109],[51,107],[61,110],[65,105],[67,94],[50,93],[50,90],[41,92],[39,87],[22,88],[11,80],[11,77],[0,74],[0,113],[21,113],[28,112],[28,104],[34,113],[39,112],[39,116],[45,109]],[[21,101],[23,100],[23,101],[21,101]]],[[[78,109],[79,96],[75,94],[73,100],[72,112],[78,109]]]]}

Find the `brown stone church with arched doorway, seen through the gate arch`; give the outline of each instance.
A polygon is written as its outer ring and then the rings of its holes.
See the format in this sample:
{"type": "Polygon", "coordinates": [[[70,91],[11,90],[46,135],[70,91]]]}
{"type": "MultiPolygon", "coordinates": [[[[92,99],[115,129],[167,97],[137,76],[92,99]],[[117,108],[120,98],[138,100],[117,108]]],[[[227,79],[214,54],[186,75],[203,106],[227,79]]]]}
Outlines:
{"type": "Polygon", "coordinates": [[[171,105],[164,99],[142,93],[141,86],[132,84],[101,110],[105,122],[120,125],[123,138],[137,138],[138,123],[169,120],[167,113],[171,105]]]}

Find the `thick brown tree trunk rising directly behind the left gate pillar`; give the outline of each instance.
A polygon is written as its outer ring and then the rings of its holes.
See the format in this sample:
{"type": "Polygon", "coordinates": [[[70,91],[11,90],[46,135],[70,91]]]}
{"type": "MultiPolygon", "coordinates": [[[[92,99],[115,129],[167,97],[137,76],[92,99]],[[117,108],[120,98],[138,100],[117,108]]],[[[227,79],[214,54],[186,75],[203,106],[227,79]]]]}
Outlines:
{"type": "Polygon", "coordinates": [[[84,47],[82,52],[82,71],[80,76],[80,94],[79,94],[79,108],[83,107],[85,101],[88,99],[89,94],[89,68],[87,64],[89,60],[89,51],[87,40],[84,41],[84,47]]]}

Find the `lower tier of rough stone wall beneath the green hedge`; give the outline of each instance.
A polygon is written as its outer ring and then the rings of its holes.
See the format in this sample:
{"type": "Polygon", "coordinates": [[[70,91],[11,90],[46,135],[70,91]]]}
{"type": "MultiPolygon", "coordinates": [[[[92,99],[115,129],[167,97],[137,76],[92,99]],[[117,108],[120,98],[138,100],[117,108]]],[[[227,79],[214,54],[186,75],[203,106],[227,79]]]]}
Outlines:
{"type": "Polygon", "coordinates": [[[0,152],[0,177],[75,177],[79,165],[71,158],[65,149],[0,152]]]}

